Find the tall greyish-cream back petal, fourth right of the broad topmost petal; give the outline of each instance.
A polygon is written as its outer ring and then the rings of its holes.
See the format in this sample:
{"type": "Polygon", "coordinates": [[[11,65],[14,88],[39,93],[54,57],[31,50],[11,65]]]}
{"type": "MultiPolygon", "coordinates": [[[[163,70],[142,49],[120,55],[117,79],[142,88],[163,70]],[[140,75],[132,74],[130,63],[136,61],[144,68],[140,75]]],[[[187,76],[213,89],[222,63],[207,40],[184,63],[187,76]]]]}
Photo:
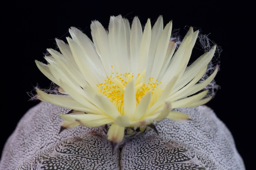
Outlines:
{"type": "Polygon", "coordinates": [[[151,31],[151,41],[150,41],[150,47],[148,52],[147,71],[146,71],[145,79],[148,79],[151,77],[150,73],[151,73],[151,69],[153,67],[153,63],[156,55],[156,48],[157,48],[157,44],[160,39],[160,36],[163,32],[163,29],[164,29],[163,16],[160,15],[157,18],[156,23],[154,24],[151,31]]]}

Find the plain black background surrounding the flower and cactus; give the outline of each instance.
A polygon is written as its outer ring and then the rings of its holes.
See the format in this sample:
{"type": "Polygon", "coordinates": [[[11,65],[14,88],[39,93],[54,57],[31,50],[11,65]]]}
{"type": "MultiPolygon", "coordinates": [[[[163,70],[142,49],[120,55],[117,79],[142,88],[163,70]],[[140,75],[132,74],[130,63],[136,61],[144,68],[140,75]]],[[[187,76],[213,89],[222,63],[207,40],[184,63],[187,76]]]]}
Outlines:
{"type": "MultiPolygon", "coordinates": [[[[1,145],[15,129],[26,111],[38,102],[28,101],[26,92],[33,87],[48,88],[48,80],[36,67],[34,60],[44,61],[46,48],[56,49],[54,38],[66,41],[68,28],[75,26],[91,38],[90,24],[99,20],[108,27],[111,15],[122,14],[132,22],[138,16],[145,24],[151,18],[154,24],[159,15],[163,15],[164,25],[170,20],[173,29],[180,28],[184,36],[193,26],[222,48],[220,71],[215,80],[220,90],[206,105],[230,129],[238,152],[244,159],[246,169],[251,169],[252,153],[255,146],[252,137],[255,134],[252,80],[255,79],[253,54],[255,49],[255,14],[252,4],[240,1],[240,4],[221,1],[155,1],[154,3],[132,1],[9,1],[2,5],[2,113],[1,145]],[[253,19],[254,18],[254,19],[253,19]]],[[[192,61],[203,54],[194,50],[192,61]]]]}

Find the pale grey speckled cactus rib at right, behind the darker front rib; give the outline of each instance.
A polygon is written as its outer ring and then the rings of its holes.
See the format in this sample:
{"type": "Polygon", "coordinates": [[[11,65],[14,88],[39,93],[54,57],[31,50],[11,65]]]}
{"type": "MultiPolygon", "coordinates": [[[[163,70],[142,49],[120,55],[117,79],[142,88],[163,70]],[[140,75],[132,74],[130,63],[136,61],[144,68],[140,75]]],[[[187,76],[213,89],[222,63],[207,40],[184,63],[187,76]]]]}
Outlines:
{"type": "Polygon", "coordinates": [[[189,144],[198,151],[209,154],[227,170],[245,169],[230,131],[211,108],[203,105],[179,108],[176,111],[187,113],[196,122],[180,123],[164,119],[156,126],[159,134],[189,144]]]}

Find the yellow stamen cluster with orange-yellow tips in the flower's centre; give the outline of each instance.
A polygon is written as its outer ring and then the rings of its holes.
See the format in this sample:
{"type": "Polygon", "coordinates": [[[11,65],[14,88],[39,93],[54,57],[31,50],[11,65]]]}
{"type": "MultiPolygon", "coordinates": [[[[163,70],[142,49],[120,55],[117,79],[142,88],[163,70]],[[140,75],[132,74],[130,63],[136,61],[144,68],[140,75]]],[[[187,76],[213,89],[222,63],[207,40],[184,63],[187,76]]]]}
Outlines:
{"type": "MultiPolygon", "coordinates": [[[[127,86],[127,83],[129,81],[134,81],[133,73],[124,73],[119,74],[118,72],[115,74],[111,71],[111,76],[107,77],[105,79],[104,83],[97,84],[96,86],[96,92],[99,92],[102,95],[105,95],[108,97],[108,99],[116,106],[116,108],[119,110],[121,115],[124,115],[124,91],[127,86]],[[114,77],[115,74],[115,77],[114,77]],[[131,80],[128,80],[128,79],[131,80]]],[[[145,71],[144,71],[145,74],[145,71]]],[[[154,105],[156,100],[158,100],[159,96],[163,91],[161,91],[161,87],[159,87],[157,80],[153,81],[153,78],[149,78],[148,83],[145,83],[145,77],[143,75],[138,74],[136,77],[136,80],[142,79],[143,77],[143,83],[140,83],[138,85],[135,84],[135,90],[136,90],[136,105],[139,104],[140,100],[143,98],[143,96],[151,92],[151,101],[150,106],[154,105]]],[[[135,81],[136,81],[135,80],[135,81]]],[[[161,82],[160,82],[161,83],[161,82]]]]}

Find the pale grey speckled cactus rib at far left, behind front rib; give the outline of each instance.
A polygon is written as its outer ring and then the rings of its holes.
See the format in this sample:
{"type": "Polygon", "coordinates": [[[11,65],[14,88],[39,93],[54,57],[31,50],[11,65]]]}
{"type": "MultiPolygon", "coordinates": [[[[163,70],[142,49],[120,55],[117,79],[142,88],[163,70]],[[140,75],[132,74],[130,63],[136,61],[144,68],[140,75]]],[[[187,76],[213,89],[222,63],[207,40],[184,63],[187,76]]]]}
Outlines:
{"type": "Polygon", "coordinates": [[[78,126],[58,135],[62,122],[59,114],[68,113],[69,110],[47,102],[40,102],[29,109],[4,145],[0,170],[13,170],[39,150],[92,129],[78,126]]]}

